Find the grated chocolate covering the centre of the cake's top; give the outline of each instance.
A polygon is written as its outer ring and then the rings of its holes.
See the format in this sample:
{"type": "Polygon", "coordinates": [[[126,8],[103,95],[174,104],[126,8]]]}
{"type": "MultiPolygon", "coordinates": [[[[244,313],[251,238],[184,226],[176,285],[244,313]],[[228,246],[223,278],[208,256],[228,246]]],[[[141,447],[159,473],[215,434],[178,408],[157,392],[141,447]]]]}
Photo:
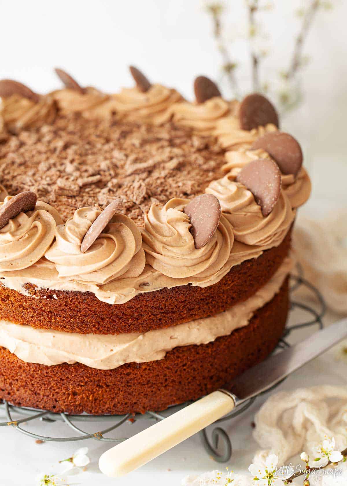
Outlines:
{"type": "Polygon", "coordinates": [[[0,143],[0,183],[9,194],[33,191],[65,220],[78,208],[104,208],[120,197],[120,212],[142,226],[153,202],[201,194],[224,175],[224,163],[216,139],[191,129],[78,114],[0,143]]]}

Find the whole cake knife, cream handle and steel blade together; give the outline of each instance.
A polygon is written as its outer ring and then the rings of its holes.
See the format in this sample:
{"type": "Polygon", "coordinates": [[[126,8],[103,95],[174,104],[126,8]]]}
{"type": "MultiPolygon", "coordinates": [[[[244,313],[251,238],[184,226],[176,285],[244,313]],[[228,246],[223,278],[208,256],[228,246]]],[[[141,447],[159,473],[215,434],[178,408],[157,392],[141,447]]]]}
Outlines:
{"type": "Polygon", "coordinates": [[[118,477],[143,466],[246,400],[268,390],[346,337],[347,319],[315,332],[295,346],[253,366],[223,388],[104,452],[99,459],[99,468],[107,476],[118,477]]]}

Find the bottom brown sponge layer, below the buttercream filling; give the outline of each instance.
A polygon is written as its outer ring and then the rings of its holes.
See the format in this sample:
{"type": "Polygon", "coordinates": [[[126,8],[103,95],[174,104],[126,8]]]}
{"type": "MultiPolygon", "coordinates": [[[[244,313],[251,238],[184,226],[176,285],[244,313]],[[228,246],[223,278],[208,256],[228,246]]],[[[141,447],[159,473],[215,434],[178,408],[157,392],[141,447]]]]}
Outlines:
{"type": "Polygon", "coordinates": [[[53,412],[94,415],[159,411],[197,399],[265,359],[288,312],[288,278],[246,327],[206,345],[176,347],[165,358],[100,370],[85,364],[25,363],[0,347],[0,398],[53,412]]]}

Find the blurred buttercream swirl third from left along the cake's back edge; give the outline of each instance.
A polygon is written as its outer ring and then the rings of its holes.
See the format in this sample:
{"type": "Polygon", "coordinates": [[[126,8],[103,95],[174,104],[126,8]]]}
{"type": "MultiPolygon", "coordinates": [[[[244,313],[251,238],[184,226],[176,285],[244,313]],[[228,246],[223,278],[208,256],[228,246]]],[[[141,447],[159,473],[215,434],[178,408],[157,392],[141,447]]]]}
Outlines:
{"type": "Polygon", "coordinates": [[[178,91],[158,84],[152,85],[146,92],[134,87],[123,88],[120,93],[112,95],[115,109],[123,118],[158,125],[172,118],[170,108],[181,100],[178,91]]]}

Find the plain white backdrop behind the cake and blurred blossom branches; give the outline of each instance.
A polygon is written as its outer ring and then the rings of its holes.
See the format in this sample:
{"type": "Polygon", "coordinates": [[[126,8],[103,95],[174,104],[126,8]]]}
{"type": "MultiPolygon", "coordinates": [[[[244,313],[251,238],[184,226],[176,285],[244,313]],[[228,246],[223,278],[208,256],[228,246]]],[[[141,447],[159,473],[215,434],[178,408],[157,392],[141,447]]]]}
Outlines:
{"type": "MultiPolygon", "coordinates": [[[[275,9],[260,16],[273,46],[262,81],[288,67],[299,26],[294,11],[305,3],[275,0],[275,9]]],[[[227,37],[243,30],[243,4],[226,1],[227,37]]],[[[304,53],[312,61],[303,71],[305,103],[283,128],[302,142],[313,195],[346,202],[347,2],[333,4],[331,12],[318,13],[308,36],[304,53]]],[[[188,98],[196,75],[220,75],[220,56],[201,0],[3,0],[0,6],[0,75],[37,91],[60,86],[52,70],[56,66],[81,84],[117,91],[132,86],[127,66],[134,64],[153,82],[177,87],[188,98]]],[[[232,49],[247,67],[245,42],[232,49]]]]}

